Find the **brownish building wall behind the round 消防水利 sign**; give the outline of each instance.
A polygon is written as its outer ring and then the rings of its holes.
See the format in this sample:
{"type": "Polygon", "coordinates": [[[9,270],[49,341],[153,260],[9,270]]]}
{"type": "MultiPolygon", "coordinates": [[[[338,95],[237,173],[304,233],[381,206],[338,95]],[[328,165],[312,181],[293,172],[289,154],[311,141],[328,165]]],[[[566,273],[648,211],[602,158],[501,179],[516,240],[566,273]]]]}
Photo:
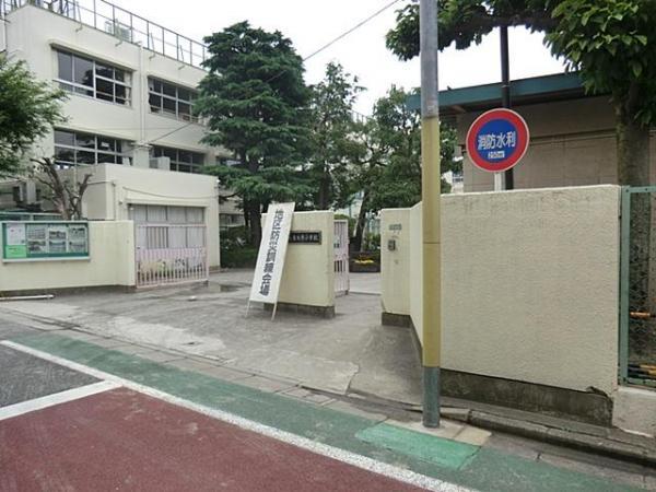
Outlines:
{"type": "MultiPolygon", "coordinates": [[[[614,113],[608,97],[586,97],[514,108],[527,121],[530,147],[515,167],[515,187],[547,188],[617,184],[614,113]]],[[[480,113],[457,119],[458,141],[480,113]]],[[[656,159],[656,139],[652,139],[656,159]]],[[[656,166],[652,166],[656,178],[656,166]]],[[[465,192],[494,189],[493,175],[464,161],[465,192]]]]}

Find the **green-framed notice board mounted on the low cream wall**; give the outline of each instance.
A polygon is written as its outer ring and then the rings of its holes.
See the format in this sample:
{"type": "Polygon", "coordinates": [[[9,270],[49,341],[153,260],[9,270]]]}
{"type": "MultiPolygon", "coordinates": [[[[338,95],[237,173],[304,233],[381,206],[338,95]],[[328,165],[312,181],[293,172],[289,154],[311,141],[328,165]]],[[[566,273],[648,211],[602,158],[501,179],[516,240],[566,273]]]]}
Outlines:
{"type": "Polygon", "coordinates": [[[87,259],[89,222],[2,222],[2,260],[87,259]]]}

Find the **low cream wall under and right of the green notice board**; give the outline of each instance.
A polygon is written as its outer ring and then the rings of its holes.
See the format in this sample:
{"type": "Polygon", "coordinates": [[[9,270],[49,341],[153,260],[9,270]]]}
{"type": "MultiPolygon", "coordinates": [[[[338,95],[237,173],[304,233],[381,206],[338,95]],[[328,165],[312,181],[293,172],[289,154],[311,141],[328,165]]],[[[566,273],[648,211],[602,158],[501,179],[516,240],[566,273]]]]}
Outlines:
{"type": "Polygon", "coordinates": [[[89,241],[87,260],[0,261],[0,292],[133,286],[133,223],[90,222],[89,241]]]}

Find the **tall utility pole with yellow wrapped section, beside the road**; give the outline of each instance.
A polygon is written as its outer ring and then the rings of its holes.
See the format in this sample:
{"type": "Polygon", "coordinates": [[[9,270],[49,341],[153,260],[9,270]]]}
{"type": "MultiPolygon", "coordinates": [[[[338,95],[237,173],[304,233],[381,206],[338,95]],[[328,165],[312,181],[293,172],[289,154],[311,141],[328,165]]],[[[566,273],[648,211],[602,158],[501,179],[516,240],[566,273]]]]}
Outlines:
{"type": "Polygon", "coordinates": [[[440,200],[440,104],[437,90],[437,1],[420,0],[422,161],[422,365],[423,424],[440,426],[442,351],[442,241],[440,200]]]}

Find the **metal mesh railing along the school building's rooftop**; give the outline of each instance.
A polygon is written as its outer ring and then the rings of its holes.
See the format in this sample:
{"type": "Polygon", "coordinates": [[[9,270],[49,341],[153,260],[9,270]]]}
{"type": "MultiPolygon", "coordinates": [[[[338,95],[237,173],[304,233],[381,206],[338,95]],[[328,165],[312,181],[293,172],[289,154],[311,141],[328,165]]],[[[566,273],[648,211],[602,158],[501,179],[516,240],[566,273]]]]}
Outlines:
{"type": "Polygon", "coordinates": [[[206,45],[162,27],[147,19],[105,0],[0,0],[0,13],[24,5],[34,5],[103,31],[127,43],[174,58],[183,63],[201,67],[206,45]]]}

